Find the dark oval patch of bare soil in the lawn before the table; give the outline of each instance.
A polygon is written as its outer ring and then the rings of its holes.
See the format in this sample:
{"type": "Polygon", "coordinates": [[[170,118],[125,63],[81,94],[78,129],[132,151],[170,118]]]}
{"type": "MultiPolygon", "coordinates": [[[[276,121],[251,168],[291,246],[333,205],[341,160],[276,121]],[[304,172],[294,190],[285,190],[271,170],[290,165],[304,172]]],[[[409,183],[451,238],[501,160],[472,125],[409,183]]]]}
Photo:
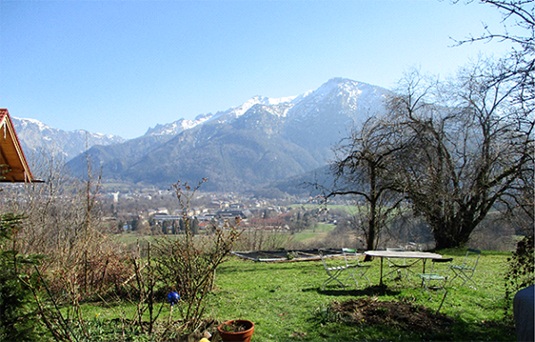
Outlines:
{"type": "Polygon", "coordinates": [[[448,330],[453,319],[444,314],[435,314],[423,305],[407,302],[380,301],[371,297],[333,303],[333,313],[344,321],[366,325],[386,325],[399,330],[416,332],[439,332],[448,330]]]}

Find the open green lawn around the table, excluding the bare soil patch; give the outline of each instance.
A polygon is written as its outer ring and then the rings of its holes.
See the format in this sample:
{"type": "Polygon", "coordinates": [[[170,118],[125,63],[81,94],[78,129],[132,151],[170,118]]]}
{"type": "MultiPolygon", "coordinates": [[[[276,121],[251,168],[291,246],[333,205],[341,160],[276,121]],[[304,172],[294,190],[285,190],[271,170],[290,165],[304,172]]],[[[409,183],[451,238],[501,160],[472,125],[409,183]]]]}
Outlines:
{"type": "MultiPolygon", "coordinates": [[[[443,251],[462,263],[463,251],[443,251]]],[[[483,252],[474,276],[478,289],[454,282],[440,314],[452,322],[440,330],[415,330],[402,324],[372,325],[350,322],[329,309],[333,302],[356,298],[401,301],[424,305],[435,312],[440,296],[429,300],[416,276],[408,281],[386,280],[379,288],[379,259],[370,262],[367,281],[353,282],[345,290],[321,284],[326,279],[321,262],[266,264],[231,258],[218,268],[217,287],[208,298],[207,317],[224,321],[247,319],[255,323],[252,340],[258,341],[511,341],[512,322],[504,320],[504,288],[508,253],[483,252]]],[[[417,271],[416,271],[417,272],[417,271]]],[[[381,314],[380,312],[378,314],[381,314]]],[[[388,314],[385,312],[385,314],[388,314]]]]}

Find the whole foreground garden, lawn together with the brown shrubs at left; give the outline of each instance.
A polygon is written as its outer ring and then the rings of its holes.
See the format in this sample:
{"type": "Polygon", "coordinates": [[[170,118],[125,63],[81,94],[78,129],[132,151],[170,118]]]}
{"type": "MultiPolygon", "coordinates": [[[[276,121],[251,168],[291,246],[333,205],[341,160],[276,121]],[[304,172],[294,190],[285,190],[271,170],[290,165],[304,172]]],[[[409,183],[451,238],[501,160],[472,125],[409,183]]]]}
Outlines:
{"type": "MultiPolygon", "coordinates": [[[[188,229],[186,209],[197,189],[174,184],[185,233],[128,245],[103,233],[91,210],[61,230],[57,221],[30,224],[46,216],[2,214],[0,340],[218,342],[217,327],[236,319],[254,323],[253,342],[514,337],[514,292],[533,282],[532,234],[514,252],[484,250],[473,276],[477,289],[451,281],[442,304],[442,293],[432,291],[430,298],[416,269],[400,279],[384,276],[380,286],[380,258],[361,259],[369,282],[341,278],[348,286],[324,288],[321,260],[266,263],[234,256],[236,243],[246,239],[239,219],[202,235],[188,229]],[[37,226],[51,230],[35,235],[51,249],[29,253],[25,246],[37,226]]],[[[466,248],[433,252],[458,265],[466,248]]]]}

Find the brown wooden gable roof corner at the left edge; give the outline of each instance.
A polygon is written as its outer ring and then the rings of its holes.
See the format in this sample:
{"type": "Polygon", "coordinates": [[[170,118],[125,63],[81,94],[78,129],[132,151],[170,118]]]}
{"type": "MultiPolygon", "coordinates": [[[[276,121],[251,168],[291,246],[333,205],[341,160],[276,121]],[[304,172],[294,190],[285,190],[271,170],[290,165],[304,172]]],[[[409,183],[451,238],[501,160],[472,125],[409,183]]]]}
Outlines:
{"type": "Polygon", "coordinates": [[[30,183],[37,181],[29,171],[21,142],[9,113],[0,109],[0,183],[30,183]]]}

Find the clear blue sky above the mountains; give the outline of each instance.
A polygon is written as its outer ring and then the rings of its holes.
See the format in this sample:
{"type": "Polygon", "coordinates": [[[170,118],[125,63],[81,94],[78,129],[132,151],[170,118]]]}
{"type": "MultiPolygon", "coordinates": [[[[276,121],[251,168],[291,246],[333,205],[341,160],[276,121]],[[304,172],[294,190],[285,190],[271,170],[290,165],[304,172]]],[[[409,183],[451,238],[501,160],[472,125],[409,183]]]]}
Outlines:
{"type": "Polygon", "coordinates": [[[347,77],[391,88],[447,76],[497,41],[489,5],[438,0],[0,0],[0,108],[63,130],[134,138],[156,124],[347,77]]]}

